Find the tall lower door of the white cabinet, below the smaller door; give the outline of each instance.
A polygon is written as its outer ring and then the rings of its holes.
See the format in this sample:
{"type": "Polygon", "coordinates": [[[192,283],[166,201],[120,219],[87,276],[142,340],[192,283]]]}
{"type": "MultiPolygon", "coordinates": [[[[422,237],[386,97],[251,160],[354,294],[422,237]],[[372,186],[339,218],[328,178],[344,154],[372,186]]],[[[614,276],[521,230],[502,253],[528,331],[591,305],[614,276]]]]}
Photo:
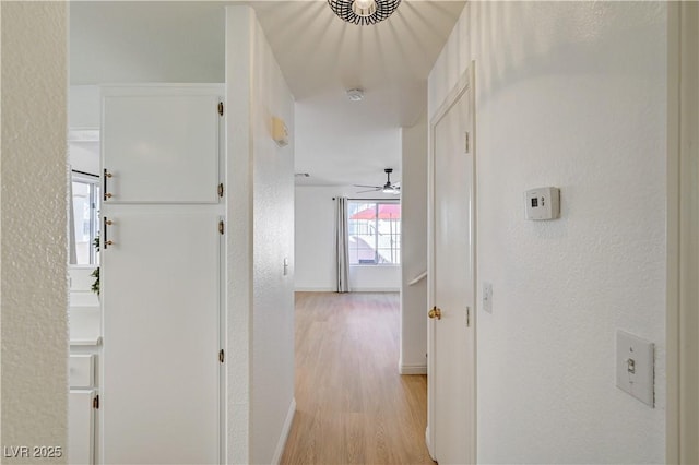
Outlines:
{"type": "Polygon", "coordinates": [[[105,463],[216,463],[220,217],[187,205],[105,215],[105,463]]]}

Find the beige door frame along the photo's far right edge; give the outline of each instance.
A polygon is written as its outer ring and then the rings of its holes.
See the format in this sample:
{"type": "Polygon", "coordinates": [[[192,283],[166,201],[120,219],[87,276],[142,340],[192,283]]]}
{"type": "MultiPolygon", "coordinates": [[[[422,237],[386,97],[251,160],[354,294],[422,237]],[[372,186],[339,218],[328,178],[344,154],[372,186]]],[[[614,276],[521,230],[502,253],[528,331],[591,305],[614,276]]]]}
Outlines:
{"type": "Polygon", "coordinates": [[[671,464],[699,461],[699,5],[667,4],[667,406],[671,464]]]}

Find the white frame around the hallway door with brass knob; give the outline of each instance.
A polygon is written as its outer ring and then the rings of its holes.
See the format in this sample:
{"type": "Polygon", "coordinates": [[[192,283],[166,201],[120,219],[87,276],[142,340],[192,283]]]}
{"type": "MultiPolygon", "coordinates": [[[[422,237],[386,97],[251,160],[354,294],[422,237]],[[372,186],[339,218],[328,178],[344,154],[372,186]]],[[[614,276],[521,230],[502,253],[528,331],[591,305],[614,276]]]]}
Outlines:
{"type": "MultiPolygon", "coordinates": [[[[474,305],[473,305],[473,314],[472,314],[472,329],[473,329],[473,367],[474,367],[474,380],[473,380],[473,398],[471,400],[471,407],[473,412],[473,418],[471,418],[473,436],[471,438],[466,438],[470,442],[469,450],[471,451],[471,457],[469,460],[470,463],[476,463],[476,446],[477,446],[477,323],[476,323],[476,301],[477,301],[477,171],[476,171],[476,144],[475,144],[475,130],[476,130],[476,118],[475,118],[475,61],[471,61],[469,67],[463,71],[461,78],[457,84],[451,88],[451,91],[446,95],[441,104],[439,105],[435,116],[430,119],[429,122],[429,140],[428,140],[428,155],[427,155],[427,302],[428,307],[435,305],[435,134],[437,124],[441,121],[441,119],[449,112],[451,107],[453,107],[461,96],[470,91],[469,94],[469,106],[471,111],[471,126],[467,129],[470,133],[470,151],[472,154],[472,169],[473,169],[473,182],[472,182],[472,208],[470,212],[471,225],[473,228],[473,241],[471,243],[471,254],[473,257],[473,289],[474,289],[474,305]]],[[[431,370],[434,369],[435,363],[435,323],[429,320],[427,323],[427,428],[425,429],[425,442],[427,444],[427,450],[429,451],[429,455],[435,458],[435,431],[430,428],[431,425],[435,425],[435,390],[430,389],[431,383],[434,382],[434,377],[431,375],[431,370]]]]}

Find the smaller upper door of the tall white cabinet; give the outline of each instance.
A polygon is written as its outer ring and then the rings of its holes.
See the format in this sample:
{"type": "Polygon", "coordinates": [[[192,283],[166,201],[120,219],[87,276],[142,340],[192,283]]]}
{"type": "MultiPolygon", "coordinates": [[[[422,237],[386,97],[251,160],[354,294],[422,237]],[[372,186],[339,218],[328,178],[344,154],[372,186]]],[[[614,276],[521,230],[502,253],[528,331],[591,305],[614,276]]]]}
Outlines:
{"type": "Polygon", "coordinates": [[[146,90],[103,91],[105,202],[218,202],[221,98],[146,90]]]}

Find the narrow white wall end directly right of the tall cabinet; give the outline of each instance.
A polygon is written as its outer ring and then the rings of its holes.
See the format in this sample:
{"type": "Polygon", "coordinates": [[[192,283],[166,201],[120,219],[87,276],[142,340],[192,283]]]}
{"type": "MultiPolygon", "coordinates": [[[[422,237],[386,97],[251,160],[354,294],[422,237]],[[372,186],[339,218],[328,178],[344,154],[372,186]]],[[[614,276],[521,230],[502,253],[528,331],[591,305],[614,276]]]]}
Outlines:
{"type": "Polygon", "coordinates": [[[226,460],[250,462],[252,325],[251,13],[226,9],[226,460]]]}

